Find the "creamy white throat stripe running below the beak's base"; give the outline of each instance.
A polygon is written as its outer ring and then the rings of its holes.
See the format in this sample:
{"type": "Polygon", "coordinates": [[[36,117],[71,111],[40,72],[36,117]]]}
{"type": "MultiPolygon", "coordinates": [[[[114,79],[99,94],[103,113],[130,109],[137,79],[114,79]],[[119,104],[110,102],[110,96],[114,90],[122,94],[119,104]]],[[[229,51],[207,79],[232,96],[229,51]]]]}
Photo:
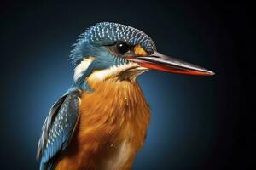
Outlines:
{"type": "Polygon", "coordinates": [[[119,73],[123,71],[127,71],[131,68],[138,67],[139,65],[137,63],[129,63],[125,65],[113,65],[112,67],[102,70],[102,71],[94,71],[91,75],[90,78],[98,81],[103,81],[107,79],[108,77],[114,77],[119,75],[119,73]]]}

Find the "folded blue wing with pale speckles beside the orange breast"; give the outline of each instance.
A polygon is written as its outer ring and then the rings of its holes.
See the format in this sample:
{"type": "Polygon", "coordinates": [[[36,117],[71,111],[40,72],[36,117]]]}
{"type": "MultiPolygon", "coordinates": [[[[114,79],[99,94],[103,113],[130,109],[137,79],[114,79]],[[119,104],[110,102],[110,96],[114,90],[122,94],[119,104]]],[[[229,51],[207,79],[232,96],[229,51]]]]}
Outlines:
{"type": "Polygon", "coordinates": [[[65,150],[79,118],[80,90],[70,92],[59,99],[51,108],[38,142],[40,170],[53,169],[55,157],[65,150]]]}

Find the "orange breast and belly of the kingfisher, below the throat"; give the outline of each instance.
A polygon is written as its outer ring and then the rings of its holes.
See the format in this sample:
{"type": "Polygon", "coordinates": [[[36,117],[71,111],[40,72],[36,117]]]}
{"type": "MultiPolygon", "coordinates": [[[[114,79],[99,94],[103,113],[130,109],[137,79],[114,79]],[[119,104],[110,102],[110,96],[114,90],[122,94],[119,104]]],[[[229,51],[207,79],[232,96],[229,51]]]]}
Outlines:
{"type": "Polygon", "coordinates": [[[137,82],[90,82],[79,122],[56,169],[130,169],[143,146],[149,108],[137,82]]]}

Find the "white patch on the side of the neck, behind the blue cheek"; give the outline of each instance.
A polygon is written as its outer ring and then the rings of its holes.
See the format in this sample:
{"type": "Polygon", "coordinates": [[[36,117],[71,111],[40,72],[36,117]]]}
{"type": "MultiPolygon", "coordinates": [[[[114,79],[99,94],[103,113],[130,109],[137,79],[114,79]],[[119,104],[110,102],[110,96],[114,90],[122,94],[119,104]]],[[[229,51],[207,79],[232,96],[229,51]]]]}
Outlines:
{"type": "Polygon", "coordinates": [[[83,75],[83,71],[85,71],[89,65],[95,60],[93,57],[89,57],[81,61],[81,63],[74,69],[73,80],[76,82],[79,77],[83,75]]]}

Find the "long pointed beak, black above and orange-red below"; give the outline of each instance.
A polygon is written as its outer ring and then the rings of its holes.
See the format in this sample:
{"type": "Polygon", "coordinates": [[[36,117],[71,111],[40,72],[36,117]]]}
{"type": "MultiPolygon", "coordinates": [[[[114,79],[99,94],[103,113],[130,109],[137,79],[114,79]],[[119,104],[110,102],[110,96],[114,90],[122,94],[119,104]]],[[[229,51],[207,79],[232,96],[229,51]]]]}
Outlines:
{"type": "Polygon", "coordinates": [[[158,71],[174,72],[180,74],[197,75],[197,76],[212,76],[214,72],[208,71],[197,65],[192,65],[179,59],[168,57],[154,51],[148,56],[129,57],[129,60],[136,61],[139,65],[148,69],[158,71]]]}

